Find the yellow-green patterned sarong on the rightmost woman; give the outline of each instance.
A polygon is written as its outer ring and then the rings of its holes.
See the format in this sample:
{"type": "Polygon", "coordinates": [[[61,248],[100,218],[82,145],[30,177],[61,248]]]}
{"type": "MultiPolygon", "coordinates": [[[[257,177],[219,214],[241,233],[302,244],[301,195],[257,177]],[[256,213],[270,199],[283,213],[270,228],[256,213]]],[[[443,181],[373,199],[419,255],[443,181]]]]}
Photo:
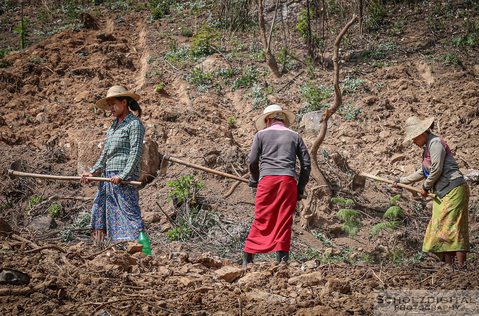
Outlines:
{"type": "Polygon", "coordinates": [[[422,251],[436,253],[441,261],[444,251],[469,251],[468,204],[467,183],[455,187],[442,199],[434,199],[422,251]]]}

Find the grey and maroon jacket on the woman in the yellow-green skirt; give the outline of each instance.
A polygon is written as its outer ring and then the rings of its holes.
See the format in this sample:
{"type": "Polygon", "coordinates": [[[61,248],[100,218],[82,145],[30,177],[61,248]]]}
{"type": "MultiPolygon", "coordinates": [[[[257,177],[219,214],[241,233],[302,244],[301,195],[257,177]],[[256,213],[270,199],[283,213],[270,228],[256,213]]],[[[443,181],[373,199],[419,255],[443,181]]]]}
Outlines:
{"type": "Polygon", "coordinates": [[[445,140],[430,134],[423,148],[421,168],[410,176],[396,179],[396,182],[411,184],[426,179],[422,187],[426,191],[434,188],[440,198],[458,185],[466,183],[445,140]]]}

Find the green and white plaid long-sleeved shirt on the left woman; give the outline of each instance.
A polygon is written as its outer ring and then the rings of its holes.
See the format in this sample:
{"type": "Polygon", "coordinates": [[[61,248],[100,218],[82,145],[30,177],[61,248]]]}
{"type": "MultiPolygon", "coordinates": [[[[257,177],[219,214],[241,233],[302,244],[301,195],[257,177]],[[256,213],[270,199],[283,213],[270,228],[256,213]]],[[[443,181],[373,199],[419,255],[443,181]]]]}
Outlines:
{"type": "Polygon", "coordinates": [[[105,171],[121,171],[118,176],[125,179],[130,174],[140,176],[140,156],[143,149],[145,128],[140,119],[128,114],[116,127],[118,118],[106,131],[105,147],[90,173],[102,168],[105,171]]]}

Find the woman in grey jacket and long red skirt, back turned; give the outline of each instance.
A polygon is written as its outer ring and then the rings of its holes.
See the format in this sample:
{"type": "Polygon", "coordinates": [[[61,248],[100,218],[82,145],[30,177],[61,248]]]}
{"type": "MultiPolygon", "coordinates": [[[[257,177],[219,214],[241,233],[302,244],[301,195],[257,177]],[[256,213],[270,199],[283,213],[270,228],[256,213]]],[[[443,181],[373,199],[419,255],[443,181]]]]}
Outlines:
{"type": "Polygon", "coordinates": [[[311,161],[301,136],[288,129],[296,114],[279,105],[269,105],[258,117],[248,156],[250,187],[257,187],[254,222],[244,247],[243,266],[254,254],[276,252],[276,260],[287,262],[293,213],[298,196],[304,193],[311,161]],[[296,174],[296,157],[301,164],[296,174]],[[261,166],[259,164],[261,158],[261,166]]]}

